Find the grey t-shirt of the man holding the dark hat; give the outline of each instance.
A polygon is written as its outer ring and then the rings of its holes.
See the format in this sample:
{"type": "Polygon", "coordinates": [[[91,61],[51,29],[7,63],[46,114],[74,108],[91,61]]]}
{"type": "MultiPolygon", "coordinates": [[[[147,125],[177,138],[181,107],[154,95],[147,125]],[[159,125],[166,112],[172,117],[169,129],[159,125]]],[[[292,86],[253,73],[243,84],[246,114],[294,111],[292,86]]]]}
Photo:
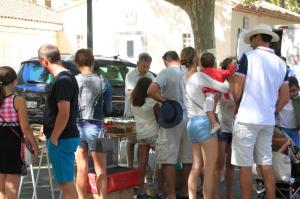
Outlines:
{"type": "Polygon", "coordinates": [[[183,102],[181,85],[183,75],[186,72],[187,68],[185,66],[170,66],[160,71],[160,73],[154,80],[154,82],[156,82],[160,86],[161,95],[168,99],[176,100],[177,102],[179,102],[183,110],[186,109],[183,102]]]}

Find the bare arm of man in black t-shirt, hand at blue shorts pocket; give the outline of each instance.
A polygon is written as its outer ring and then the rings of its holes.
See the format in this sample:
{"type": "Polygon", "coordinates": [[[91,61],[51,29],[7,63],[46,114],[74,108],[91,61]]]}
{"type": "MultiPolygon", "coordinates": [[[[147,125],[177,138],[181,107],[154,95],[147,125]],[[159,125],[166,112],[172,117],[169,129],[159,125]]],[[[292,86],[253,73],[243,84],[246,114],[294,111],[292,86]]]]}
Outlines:
{"type": "Polygon", "coordinates": [[[66,127],[69,116],[70,116],[70,102],[66,100],[61,100],[57,103],[58,114],[56,116],[54,129],[52,131],[50,140],[54,145],[57,145],[57,140],[64,128],[66,127]]]}

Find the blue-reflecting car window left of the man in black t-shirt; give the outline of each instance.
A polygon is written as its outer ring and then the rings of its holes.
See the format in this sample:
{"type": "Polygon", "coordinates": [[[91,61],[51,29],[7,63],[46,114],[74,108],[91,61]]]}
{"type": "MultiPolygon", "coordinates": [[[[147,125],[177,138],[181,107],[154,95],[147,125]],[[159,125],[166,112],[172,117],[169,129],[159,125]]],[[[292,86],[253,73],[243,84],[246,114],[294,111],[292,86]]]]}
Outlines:
{"type": "Polygon", "coordinates": [[[25,62],[22,64],[22,70],[20,71],[19,82],[22,83],[45,83],[48,84],[53,80],[51,74],[49,74],[39,62],[25,62]]]}

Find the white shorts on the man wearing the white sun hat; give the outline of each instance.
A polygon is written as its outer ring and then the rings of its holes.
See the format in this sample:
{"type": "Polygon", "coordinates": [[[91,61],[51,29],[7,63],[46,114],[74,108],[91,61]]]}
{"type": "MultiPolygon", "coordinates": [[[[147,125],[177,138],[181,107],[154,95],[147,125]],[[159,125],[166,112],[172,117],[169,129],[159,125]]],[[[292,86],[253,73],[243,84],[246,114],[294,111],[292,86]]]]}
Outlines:
{"type": "Polygon", "coordinates": [[[272,165],[274,126],[235,122],[232,133],[231,164],[237,166],[272,165]]]}

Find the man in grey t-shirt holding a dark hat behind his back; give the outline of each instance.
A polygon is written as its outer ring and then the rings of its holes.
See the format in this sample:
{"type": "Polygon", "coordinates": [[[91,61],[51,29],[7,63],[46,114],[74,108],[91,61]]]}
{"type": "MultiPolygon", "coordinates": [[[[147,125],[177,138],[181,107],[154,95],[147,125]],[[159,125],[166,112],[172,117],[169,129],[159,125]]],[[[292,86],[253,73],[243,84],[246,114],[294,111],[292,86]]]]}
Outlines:
{"type": "Polygon", "coordinates": [[[182,79],[187,69],[179,64],[175,51],[163,56],[166,65],[152,82],[148,96],[162,103],[159,124],[162,131],[157,140],[157,162],[167,180],[168,199],[175,199],[175,165],[183,163],[182,190],[179,198],[188,198],[187,180],[191,170],[192,146],[187,135],[187,114],[183,103],[182,79]],[[181,110],[182,109],[182,110],[181,110]],[[163,117],[163,118],[162,118],[163,117]],[[182,119],[181,119],[182,118],[182,119]],[[164,149],[162,149],[165,147],[164,149]]]}

